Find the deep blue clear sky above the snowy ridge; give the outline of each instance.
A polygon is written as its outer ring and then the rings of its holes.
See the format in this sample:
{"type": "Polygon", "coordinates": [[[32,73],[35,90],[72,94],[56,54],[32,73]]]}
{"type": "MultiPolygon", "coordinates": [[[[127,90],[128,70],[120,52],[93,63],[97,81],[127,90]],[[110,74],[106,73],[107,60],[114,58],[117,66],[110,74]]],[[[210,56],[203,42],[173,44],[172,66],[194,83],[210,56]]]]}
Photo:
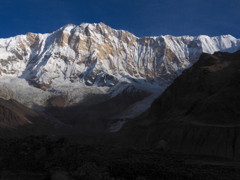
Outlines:
{"type": "Polygon", "coordinates": [[[103,22],[138,37],[240,38],[240,0],[1,0],[0,38],[103,22]]]}

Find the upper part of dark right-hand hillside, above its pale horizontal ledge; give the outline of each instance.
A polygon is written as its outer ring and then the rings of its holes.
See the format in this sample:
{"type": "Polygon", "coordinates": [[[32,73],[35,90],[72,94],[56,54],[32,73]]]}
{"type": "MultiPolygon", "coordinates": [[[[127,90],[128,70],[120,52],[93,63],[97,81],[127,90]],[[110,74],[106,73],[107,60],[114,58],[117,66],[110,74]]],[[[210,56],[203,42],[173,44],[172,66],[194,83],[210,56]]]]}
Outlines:
{"type": "Polygon", "coordinates": [[[239,124],[239,79],[240,51],[202,54],[153,102],[150,116],[157,121],[239,124]]]}

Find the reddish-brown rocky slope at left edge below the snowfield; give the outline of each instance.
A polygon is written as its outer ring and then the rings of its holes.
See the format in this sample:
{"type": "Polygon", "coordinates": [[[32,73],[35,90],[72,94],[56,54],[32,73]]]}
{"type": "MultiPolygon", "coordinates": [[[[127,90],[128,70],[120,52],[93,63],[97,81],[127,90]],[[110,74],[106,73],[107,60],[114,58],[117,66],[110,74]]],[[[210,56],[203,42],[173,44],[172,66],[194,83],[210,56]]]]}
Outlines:
{"type": "Polygon", "coordinates": [[[1,138],[55,134],[49,120],[15,100],[0,98],[1,138]]]}

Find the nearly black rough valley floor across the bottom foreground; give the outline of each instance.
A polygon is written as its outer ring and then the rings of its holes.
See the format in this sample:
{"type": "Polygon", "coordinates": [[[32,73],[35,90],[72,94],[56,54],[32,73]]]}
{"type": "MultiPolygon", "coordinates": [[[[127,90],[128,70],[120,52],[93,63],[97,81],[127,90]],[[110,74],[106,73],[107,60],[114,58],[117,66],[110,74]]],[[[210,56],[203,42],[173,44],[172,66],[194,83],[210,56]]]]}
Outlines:
{"type": "Polygon", "coordinates": [[[240,179],[240,160],[30,136],[0,140],[2,180],[240,179]]]}

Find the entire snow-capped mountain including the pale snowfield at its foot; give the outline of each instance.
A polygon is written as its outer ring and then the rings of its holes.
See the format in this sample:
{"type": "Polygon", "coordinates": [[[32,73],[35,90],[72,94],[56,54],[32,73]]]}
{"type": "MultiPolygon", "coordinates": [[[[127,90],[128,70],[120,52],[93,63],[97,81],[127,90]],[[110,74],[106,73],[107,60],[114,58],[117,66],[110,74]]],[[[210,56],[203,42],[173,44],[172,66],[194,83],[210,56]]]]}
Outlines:
{"type": "Polygon", "coordinates": [[[51,34],[0,39],[0,95],[30,107],[64,95],[69,105],[86,94],[116,96],[131,84],[154,92],[150,105],[202,52],[238,49],[231,35],[138,38],[103,23],[69,24],[51,34]]]}

